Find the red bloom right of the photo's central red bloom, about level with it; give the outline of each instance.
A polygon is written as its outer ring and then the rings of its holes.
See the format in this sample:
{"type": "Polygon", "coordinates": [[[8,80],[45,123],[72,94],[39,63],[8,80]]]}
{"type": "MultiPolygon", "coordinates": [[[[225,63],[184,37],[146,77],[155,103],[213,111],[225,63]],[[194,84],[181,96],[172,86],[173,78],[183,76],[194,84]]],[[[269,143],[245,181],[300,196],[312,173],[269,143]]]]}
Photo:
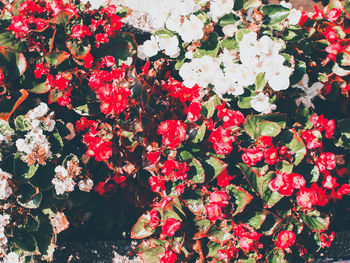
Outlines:
{"type": "Polygon", "coordinates": [[[209,136],[209,142],[213,143],[214,151],[217,154],[229,154],[233,149],[232,142],[234,141],[235,138],[230,135],[230,131],[225,130],[222,126],[209,136]]]}

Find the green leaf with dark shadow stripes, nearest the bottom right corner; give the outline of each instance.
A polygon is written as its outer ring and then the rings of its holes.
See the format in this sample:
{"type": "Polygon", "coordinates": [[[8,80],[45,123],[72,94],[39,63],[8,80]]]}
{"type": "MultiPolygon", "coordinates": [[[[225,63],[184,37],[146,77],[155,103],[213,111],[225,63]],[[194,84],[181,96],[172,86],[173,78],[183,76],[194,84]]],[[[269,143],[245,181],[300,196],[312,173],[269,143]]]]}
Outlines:
{"type": "Polygon", "coordinates": [[[317,210],[300,213],[301,219],[312,230],[322,232],[328,230],[330,219],[328,215],[321,214],[317,210]]]}

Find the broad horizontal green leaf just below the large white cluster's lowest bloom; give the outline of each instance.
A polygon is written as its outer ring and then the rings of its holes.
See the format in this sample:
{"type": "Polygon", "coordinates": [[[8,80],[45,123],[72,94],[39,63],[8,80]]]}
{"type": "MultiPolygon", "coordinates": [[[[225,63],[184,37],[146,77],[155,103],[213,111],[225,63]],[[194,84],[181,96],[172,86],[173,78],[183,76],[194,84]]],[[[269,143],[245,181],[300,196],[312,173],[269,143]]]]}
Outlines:
{"type": "MultiPolygon", "coordinates": [[[[244,130],[245,132],[255,139],[257,139],[259,136],[262,136],[261,133],[265,133],[262,129],[258,129],[258,125],[262,123],[263,121],[268,121],[268,124],[270,122],[273,122],[277,124],[280,129],[284,129],[286,127],[286,115],[281,113],[272,113],[272,114],[266,114],[266,115],[250,115],[248,116],[244,121],[244,130]]],[[[271,126],[271,134],[279,134],[280,131],[278,131],[277,126],[271,126]]],[[[267,132],[269,133],[269,132],[267,132]]]]}

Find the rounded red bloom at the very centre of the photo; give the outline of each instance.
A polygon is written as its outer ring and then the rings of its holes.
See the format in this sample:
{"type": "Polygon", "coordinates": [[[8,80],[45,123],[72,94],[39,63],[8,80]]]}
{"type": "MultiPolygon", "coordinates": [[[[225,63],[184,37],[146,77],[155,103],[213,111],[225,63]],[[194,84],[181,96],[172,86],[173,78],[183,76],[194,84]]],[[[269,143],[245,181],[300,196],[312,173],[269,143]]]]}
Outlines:
{"type": "Polygon", "coordinates": [[[163,121],[158,126],[158,134],[163,136],[163,144],[172,149],[179,147],[186,139],[186,125],[182,121],[163,121]]]}

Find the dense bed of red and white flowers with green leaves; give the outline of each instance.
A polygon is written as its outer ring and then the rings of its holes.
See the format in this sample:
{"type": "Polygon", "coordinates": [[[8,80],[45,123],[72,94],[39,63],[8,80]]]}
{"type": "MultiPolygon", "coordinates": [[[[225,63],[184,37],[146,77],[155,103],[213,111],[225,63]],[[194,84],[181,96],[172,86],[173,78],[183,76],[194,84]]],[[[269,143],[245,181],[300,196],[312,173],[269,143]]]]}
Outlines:
{"type": "Polygon", "coordinates": [[[116,192],[144,212],[144,262],[309,261],[330,246],[349,120],[316,96],[347,100],[347,8],[179,0],[137,45],[120,32],[128,8],[4,3],[2,255],[49,260],[62,211],[116,192]]]}

